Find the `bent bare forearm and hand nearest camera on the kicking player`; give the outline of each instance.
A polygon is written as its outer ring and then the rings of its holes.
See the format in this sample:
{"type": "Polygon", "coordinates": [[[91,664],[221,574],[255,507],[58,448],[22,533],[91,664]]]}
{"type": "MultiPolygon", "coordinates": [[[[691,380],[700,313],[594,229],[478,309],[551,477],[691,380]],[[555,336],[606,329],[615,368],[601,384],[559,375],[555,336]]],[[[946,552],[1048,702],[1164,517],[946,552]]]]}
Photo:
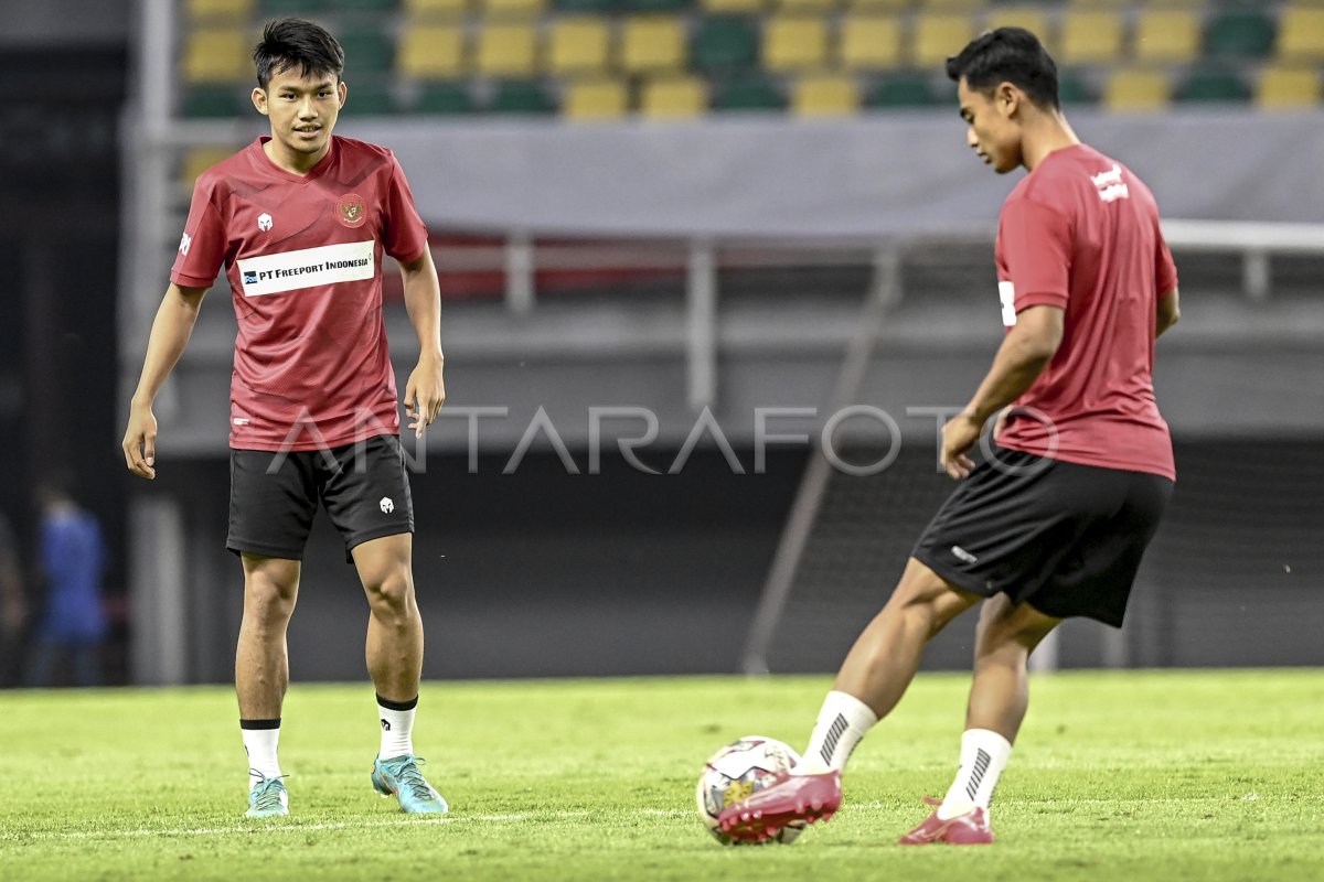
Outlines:
{"type": "Polygon", "coordinates": [[[943,468],[955,479],[974,469],[969,456],[984,423],[1021,397],[1053,361],[1062,345],[1064,312],[1035,305],[1021,311],[993,358],[970,403],[943,427],[943,468]]]}

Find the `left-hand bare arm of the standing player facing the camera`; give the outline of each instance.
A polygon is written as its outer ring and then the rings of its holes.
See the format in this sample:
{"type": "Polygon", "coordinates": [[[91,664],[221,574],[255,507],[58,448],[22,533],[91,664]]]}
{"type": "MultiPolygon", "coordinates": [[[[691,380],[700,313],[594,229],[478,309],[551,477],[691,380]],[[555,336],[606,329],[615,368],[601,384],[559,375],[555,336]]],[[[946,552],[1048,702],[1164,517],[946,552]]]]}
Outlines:
{"type": "Polygon", "coordinates": [[[156,477],[156,417],[152,414],[152,402],[188,345],[204,296],[207,288],[185,288],[171,283],[156,309],[152,332],[147,339],[143,373],[128,403],[128,426],[120,444],[124,467],[139,477],[156,477]]]}

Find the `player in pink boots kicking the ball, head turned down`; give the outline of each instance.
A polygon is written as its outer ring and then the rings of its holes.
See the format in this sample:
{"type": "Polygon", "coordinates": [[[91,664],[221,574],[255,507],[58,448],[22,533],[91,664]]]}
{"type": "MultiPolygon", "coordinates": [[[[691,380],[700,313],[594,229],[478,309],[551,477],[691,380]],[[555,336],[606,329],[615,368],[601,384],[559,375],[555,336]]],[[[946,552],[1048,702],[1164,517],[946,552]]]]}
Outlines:
{"type": "Polygon", "coordinates": [[[960,770],[900,844],[992,842],[989,801],[1025,718],[1030,653],[1067,616],[1121,625],[1172,495],[1151,376],[1155,340],[1177,321],[1177,274],[1153,196],[1076,139],[1053,58],[1030,32],[985,33],[947,73],[968,144],[998,173],[1029,169],[998,223],[1006,337],[943,428],[941,461],[961,485],[846,656],[802,764],[722,813],[737,838],[829,819],[846,760],[900,700],[924,644],[982,603],[960,770]],[[996,458],[976,467],[981,428],[1009,405],[996,458]]]}

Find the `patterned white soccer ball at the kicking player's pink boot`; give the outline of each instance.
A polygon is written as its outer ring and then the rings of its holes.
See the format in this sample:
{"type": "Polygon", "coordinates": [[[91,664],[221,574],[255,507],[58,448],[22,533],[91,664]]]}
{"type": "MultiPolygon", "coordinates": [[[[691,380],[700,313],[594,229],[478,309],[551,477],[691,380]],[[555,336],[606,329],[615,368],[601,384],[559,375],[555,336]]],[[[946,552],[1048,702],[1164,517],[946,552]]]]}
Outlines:
{"type": "MultiPolygon", "coordinates": [[[[763,735],[745,735],[719,750],[703,767],[695,792],[704,826],[723,845],[739,845],[718,826],[722,809],[776,783],[779,776],[789,772],[798,762],[800,754],[780,741],[763,735]]],[[[804,821],[788,824],[772,841],[790,845],[804,829],[804,821]]]]}

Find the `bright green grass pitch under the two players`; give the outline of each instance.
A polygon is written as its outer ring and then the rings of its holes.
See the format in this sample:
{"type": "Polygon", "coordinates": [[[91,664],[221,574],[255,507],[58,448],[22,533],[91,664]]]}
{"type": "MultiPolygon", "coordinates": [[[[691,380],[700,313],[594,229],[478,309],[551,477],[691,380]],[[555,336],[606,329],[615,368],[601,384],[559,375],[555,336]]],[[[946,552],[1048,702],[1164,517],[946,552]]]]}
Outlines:
{"type": "Polygon", "coordinates": [[[289,819],[246,821],[228,689],[0,696],[3,879],[1324,878],[1324,672],[1038,676],[988,848],[896,836],[955,771],[968,677],[922,674],[846,804],[790,846],[722,848],[703,760],[804,746],[825,677],[426,684],[416,746],[451,804],[372,792],[368,685],[295,684],[289,819]]]}

